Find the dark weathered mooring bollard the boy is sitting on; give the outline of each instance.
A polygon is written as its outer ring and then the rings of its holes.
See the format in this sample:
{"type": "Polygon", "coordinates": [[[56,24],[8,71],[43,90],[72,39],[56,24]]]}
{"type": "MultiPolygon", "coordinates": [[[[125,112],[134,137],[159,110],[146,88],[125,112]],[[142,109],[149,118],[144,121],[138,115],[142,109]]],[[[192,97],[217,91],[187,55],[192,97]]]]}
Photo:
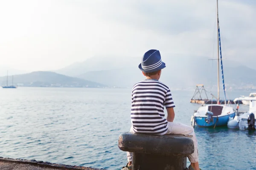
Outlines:
{"type": "Polygon", "coordinates": [[[132,170],[184,170],[194,152],[192,139],[183,135],[122,133],[118,147],[133,153],[132,170]]]}

